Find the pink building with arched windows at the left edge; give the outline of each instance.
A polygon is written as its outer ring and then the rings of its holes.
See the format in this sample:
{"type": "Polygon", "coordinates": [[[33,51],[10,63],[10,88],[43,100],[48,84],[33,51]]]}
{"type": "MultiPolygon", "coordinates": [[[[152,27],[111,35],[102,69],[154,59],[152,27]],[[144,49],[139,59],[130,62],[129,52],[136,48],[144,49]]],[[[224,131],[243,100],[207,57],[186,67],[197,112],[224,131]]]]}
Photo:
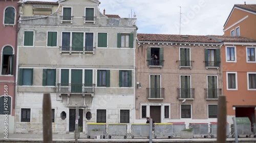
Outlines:
{"type": "Polygon", "coordinates": [[[15,64],[16,37],[18,21],[18,1],[0,2],[0,31],[1,31],[1,74],[0,74],[0,133],[14,132],[15,114],[15,64]],[[3,13],[2,13],[3,12],[3,13]],[[6,116],[2,116],[6,115],[6,116]],[[6,124],[7,123],[7,124],[6,124]]]}

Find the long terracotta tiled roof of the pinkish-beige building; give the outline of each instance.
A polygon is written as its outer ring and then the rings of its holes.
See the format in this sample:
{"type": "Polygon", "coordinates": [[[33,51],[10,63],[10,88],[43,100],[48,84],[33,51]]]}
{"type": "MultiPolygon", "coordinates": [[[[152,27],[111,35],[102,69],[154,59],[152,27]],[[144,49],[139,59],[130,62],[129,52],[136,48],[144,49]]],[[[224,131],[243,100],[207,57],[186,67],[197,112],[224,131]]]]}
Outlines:
{"type": "Polygon", "coordinates": [[[163,41],[163,42],[202,42],[220,43],[207,36],[197,35],[165,35],[165,34],[138,34],[139,41],[163,41]]]}

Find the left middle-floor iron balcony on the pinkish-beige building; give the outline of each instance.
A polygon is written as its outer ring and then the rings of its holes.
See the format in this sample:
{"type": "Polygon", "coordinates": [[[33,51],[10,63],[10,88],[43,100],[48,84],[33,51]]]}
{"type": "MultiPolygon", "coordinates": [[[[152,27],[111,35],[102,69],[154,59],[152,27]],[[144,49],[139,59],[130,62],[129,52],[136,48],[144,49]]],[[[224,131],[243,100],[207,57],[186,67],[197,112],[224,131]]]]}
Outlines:
{"type": "Polygon", "coordinates": [[[147,99],[164,99],[164,88],[147,88],[147,99]]]}

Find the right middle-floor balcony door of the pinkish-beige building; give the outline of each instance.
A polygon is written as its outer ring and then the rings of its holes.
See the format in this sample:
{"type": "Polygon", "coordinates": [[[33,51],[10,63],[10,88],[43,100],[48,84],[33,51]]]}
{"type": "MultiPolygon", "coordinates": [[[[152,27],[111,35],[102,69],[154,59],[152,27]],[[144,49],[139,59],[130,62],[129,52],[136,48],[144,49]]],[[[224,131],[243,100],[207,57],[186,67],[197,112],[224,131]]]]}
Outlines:
{"type": "Polygon", "coordinates": [[[217,76],[207,76],[208,98],[218,97],[217,76]]]}

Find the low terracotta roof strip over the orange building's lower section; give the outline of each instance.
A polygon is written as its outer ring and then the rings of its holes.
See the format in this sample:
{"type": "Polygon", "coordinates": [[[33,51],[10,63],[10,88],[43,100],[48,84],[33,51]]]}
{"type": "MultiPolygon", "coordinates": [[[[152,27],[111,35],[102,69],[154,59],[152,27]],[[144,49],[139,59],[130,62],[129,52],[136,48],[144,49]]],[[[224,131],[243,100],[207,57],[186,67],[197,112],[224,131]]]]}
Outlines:
{"type": "Polygon", "coordinates": [[[223,42],[256,42],[256,40],[241,37],[241,36],[220,36],[220,35],[210,35],[210,37],[217,38],[223,42]]]}

